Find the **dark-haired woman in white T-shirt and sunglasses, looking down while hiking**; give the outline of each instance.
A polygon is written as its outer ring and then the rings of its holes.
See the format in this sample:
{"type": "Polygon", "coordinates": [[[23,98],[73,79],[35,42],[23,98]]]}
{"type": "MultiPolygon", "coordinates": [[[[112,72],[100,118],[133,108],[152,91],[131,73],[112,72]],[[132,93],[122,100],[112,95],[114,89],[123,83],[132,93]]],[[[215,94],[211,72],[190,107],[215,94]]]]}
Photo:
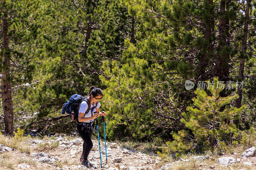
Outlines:
{"type": "Polygon", "coordinates": [[[77,131],[84,140],[83,152],[80,160],[82,161],[82,165],[86,166],[87,168],[92,167],[92,164],[88,160],[88,155],[93,146],[91,137],[94,131],[94,119],[96,119],[98,116],[106,116],[106,113],[101,113],[99,109],[100,99],[102,99],[102,97],[102,90],[92,86],[90,88],[89,96],[82,101],[80,105],[78,122],[76,123],[77,131]],[[89,103],[90,106],[88,109],[89,103]]]}

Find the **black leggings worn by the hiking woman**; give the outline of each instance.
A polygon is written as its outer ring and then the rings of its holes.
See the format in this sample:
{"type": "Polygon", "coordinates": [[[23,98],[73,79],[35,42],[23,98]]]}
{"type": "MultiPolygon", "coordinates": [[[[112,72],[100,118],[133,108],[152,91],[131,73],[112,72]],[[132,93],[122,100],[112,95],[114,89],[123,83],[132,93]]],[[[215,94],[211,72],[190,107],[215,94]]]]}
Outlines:
{"type": "MultiPolygon", "coordinates": [[[[92,127],[94,127],[94,122],[92,124],[92,127]]],[[[83,143],[83,152],[84,152],[84,160],[88,159],[88,155],[90,153],[90,151],[92,150],[92,129],[90,129],[89,133],[86,133],[85,131],[82,131],[82,125],[77,124],[76,123],[76,129],[80,135],[80,137],[82,137],[82,139],[84,140],[83,143]]]]}

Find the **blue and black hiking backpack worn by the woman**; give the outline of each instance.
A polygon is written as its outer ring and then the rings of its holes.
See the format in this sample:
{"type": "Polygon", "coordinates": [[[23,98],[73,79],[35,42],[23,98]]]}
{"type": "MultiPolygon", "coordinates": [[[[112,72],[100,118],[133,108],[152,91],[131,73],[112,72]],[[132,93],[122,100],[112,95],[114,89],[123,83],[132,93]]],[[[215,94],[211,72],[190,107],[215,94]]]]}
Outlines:
{"type": "MultiPolygon", "coordinates": [[[[61,114],[65,114],[65,112],[67,112],[67,114],[69,115],[74,115],[74,120],[78,121],[78,112],[79,112],[79,108],[81,105],[82,101],[86,101],[88,106],[91,106],[91,102],[90,100],[87,99],[88,96],[81,96],[79,94],[74,94],[72,95],[67,101],[67,103],[63,104],[63,108],[61,111],[61,114]]],[[[96,103],[97,106],[98,102],[96,103]]],[[[95,107],[96,107],[95,106],[95,107]]],[[[86,110],[85,114],[87,114],[90,110],[90,107],[88,107],[88,109],[86,110]]]]}

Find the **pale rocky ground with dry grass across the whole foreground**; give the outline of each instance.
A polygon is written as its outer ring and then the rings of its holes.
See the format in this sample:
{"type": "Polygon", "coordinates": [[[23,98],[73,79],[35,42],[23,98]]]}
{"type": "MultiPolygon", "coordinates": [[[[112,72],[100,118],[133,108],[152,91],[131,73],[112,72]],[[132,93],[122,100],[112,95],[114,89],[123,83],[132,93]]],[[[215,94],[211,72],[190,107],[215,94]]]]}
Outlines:
{"type": "MultiPolygon", "coordinates": [[[[3,139],[1,139],[3,140],[3,139]]],[[[93,141],[93,148],[89,160],[93,166],[89,169],[99,170],[256,170],[256,148],[236,151],[226,155],[183,155],[183,159],[160,159],[141,152],[130,151],[118,146],[116,143],[107,143],[107,162],[105,142],[100,143],[102,167],[98,141],[93,141]],[[169,160],[168,160],[169,159],[169,160]],[[168,163],[166,163],[168,162],[168,163]],[[171,163],[170,163],[171,162],[171,163]]],[[[2,142],[3,143],[3,142],[2,142]]],[[[10,141],[5,142],[11,145],[10,141]]],[[[63,137],[55,139],[29,139],[19,147],[10,148],[0,144],[0,169],[24,170],[86,170],[79,158],[82,153],[83,140],[63,137]]],[[[14,145],[13,145],[14,146],[14,145]]]]}

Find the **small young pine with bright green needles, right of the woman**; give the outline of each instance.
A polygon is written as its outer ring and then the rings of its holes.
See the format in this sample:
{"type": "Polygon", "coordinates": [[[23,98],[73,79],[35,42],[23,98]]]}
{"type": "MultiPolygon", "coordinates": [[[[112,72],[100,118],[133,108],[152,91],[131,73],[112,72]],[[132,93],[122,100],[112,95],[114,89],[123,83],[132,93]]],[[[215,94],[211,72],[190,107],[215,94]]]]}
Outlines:
{"type": "Polygon", "coordinates": [[[203,89],[196,89],[192,100],[194,107],[187,107],[180,120],[185,128],[174,133],[174,141],[167,142],[165,152],[204,152],[216,147],[223,147],[231,142],[238,142],[236,125],[231,120],[239,119],[246,105],[240,108],[231,107],[229,103],[238,98],[238,95],[220,97],[225,85],[220,83],[218,77],[213,82],[206,81],[210,95],[203,89]],[[220,108],[225,106],[221,112],[220,108]]]}

